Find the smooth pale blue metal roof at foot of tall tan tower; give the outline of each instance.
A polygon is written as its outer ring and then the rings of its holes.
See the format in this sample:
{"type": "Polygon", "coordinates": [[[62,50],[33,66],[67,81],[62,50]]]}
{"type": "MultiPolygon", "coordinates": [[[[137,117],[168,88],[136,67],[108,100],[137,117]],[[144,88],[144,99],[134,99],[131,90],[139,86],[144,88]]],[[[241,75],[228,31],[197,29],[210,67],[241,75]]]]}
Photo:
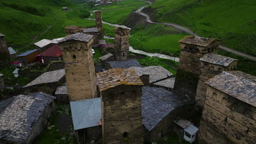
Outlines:
{"type": "Polygon", "coordinates": [[[101,98],[71,101],[74,130],[95,127],[101,119],[101,98]]]}

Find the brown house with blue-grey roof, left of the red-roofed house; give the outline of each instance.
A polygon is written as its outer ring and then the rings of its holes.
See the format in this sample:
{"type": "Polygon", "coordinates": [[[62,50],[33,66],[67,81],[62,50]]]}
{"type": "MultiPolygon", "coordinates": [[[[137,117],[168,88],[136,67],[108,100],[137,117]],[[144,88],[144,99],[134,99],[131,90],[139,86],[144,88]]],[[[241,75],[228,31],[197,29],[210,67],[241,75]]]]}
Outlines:
{"type": "Polygon", "coordinates": [[[39,50],[29,50],[16,56],[18,61],[24,61],[25,64],[36,62],[36,56],[39,54],[39,50]]]}

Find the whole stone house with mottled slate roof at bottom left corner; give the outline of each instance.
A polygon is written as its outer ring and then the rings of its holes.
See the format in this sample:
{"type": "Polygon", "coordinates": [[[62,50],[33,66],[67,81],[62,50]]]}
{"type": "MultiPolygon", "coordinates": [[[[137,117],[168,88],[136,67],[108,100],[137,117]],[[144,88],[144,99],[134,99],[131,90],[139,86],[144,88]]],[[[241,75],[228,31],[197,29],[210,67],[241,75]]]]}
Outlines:
{"type": "Polygon", "coordinates": [[[0,143],[33,143],[54,113],[54,97],[44,93],[0,101],[0,143]]]}

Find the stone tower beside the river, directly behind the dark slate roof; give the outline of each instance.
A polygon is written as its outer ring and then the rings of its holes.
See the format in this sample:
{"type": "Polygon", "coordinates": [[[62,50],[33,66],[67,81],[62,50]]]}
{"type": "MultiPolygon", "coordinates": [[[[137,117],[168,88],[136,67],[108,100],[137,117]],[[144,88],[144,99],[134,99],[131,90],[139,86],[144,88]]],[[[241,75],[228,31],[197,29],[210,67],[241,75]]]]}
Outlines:
{"type": "Polygon", "coordinates": [[[125,61],[129,56],[129,28],[118,27],[115,31],[115,60],[125,61]]]}

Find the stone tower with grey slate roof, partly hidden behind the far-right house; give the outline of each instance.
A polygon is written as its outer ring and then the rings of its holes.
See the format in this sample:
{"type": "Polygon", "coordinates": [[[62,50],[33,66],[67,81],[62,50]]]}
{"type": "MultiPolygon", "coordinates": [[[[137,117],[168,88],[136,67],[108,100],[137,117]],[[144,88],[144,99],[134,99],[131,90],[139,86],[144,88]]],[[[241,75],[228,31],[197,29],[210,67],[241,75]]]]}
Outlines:
{"type": "Polygon", "coordinates": [[[214,53],[207,53],[199,59],[201,64],[201,74],[196,90],[196,110],[202,112],[206,99],[205,82],[213,76],[226,70],[234,70],[236,68],[237,59],[220,56],[214,53]]]}

